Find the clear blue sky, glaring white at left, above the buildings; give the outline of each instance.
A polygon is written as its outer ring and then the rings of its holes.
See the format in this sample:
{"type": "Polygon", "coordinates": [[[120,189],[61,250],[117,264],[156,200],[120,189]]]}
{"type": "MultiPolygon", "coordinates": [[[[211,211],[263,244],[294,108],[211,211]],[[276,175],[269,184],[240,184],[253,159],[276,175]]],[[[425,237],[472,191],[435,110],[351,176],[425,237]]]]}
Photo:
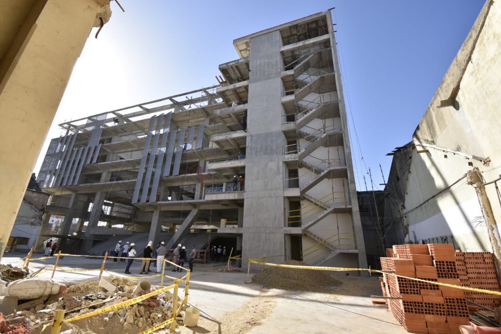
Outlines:
{"type": "MultiPolygon", "coordinates": [[[[357,189],[366,167],[387,178],[394,147],[412,139],[443,75],[484,2],[166,1],[112,2],[113,15],[77,61],[35,171],[57,124],[216,84],[218,65],[237,58],[232,41],[329,8],[337,26],[357,189]]],[[[367,183],[369,190],[370,184],[367,183]]],[[[383,187],[377,186],[382,189],[383,187]]]]}

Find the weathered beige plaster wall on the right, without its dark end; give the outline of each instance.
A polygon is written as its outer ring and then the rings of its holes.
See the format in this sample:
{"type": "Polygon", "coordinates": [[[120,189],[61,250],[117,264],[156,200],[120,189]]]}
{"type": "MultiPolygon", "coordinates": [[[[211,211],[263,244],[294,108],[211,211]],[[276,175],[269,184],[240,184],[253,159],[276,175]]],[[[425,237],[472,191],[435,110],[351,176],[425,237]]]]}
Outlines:
{"type": "MultiPolygon", "coordinates": [[[[418,145],[412,153],[404,211],[417,207],[453,184],[473,167],[482,172],[486,182],[501,174],[501,8],[495,5],[490,7],[479,33],[487,9],[488,3],[445,74],[413,135],[414,142],[433,144],[480,159],[418,145]],[[471,61],[468,61],[472,49],[471,61]],[[464,64],[467,66],[460,80],[464,64]],[[440,101],[449,98],[459,80],[460,88],[456,98],[459,110],[452,106],[440,108],[440,101]],[[417,150],[422,149],[428,149],[428,152],[417,153],[417,150]],[[490,164],[484,164],[480,161],[482,158],[490,158],[490,164]],[[468,165],[468,162],[472,165],[468,165]]],[[[482,215],[475,191],[465,181],[461,180],[441,196],[408,212],[406,219],[409,235],[406,240],[449,234],[465,250],[490,250],[484,224],[478,221],[478,217],[482,215]]],[[[494,216],[500,222],[501,203],[494,186],[486,188],[494,216]]]]}

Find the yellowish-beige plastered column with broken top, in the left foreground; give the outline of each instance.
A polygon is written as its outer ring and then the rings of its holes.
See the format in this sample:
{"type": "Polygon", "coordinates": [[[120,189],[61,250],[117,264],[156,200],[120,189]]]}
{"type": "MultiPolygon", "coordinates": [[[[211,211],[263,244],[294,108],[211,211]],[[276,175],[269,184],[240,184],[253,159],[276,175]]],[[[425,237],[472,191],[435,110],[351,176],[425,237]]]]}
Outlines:
{"type": "Polygon", "coordinates": [[[73,66],[109,0],[0,2],[0,258],[73,66]],[[7,43],[5,43],[7,41],[7,43]]]}

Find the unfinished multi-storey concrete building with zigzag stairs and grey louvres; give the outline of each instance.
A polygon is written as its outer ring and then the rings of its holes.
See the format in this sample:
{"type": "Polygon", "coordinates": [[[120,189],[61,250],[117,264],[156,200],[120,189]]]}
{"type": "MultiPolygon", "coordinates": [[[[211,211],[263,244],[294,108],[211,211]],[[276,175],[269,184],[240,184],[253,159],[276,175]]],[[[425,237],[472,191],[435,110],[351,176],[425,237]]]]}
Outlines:
{"type": "Polygon", "coordinates": [[[161,239],[365,267],[332,26],[327,11],[236,39],[219,85],[61,124],[38,177],[61,247],[161,239]]]}

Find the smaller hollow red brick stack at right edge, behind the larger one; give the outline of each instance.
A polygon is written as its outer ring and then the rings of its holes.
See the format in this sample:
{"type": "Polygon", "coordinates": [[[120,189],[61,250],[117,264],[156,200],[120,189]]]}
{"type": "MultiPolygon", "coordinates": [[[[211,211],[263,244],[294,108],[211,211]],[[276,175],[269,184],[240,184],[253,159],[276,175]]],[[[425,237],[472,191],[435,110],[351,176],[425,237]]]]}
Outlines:
{"type": "MultiPolygon", "coordinates": [[[[456,267],[463,286],[500,291],[492,253],[456,251],[456,267]]],[[[501,297],[474,291],[464,291],[467,299],[480,305],[495,308],[501,305],[501,297]]]]}

